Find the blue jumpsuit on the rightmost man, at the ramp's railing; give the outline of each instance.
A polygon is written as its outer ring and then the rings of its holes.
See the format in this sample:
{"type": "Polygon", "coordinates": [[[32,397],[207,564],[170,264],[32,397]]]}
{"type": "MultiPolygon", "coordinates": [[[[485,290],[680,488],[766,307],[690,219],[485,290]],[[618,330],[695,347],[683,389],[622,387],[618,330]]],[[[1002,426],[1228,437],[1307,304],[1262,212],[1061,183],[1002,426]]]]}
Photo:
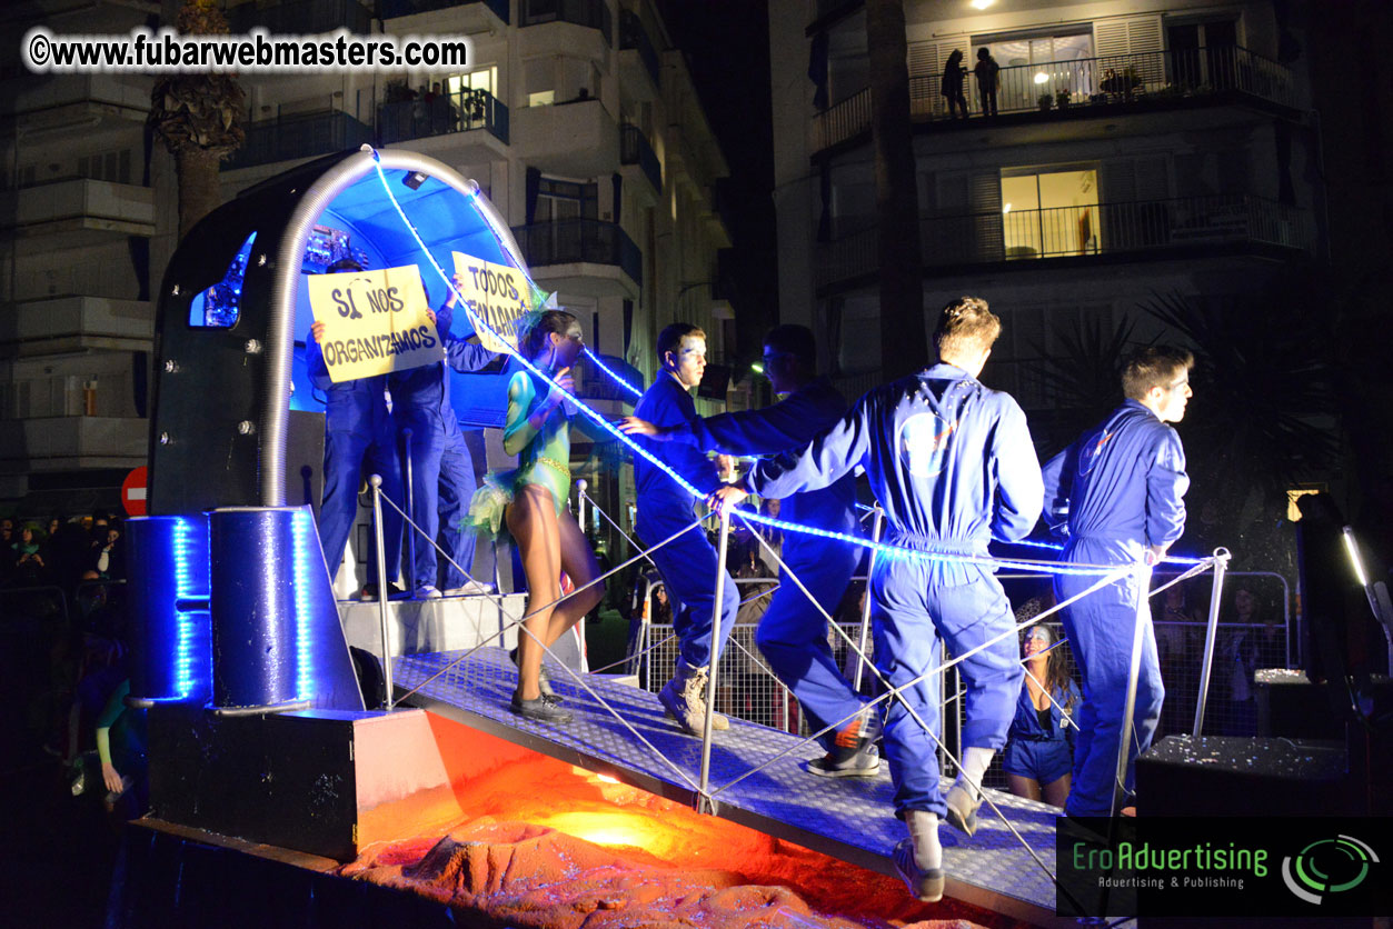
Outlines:
{"type": "MultiPolygon", "coordinates": [[[[1176,430],[1135,400],[1126,401],[1099,426],[1045,465],[1045,503],[1053,517],[1068,514],[1064,561],[1139,564],[1145,546],[1169,545],[1185,529],[1183,497],[1190,486],[1185,453],[1176,430]]],[[[1098,581],[1087,575],[1056,575],[1060,600],[1098,581]]],[[[1074,780],[1066,812],[1107,816],[1121,740],[1133,632],[1145,623],[1134,744],[1127,756],[1126,790],[1131,791],[1134,759],[1151,747],[1160,719],[1165,688],[1156,657],[1151,610],[1138,595],[1145,578],[1126,577],[1063,610],[1064,634],[1084,682],[1074,744],[1074,780]],[[1141,610],[1138,611],[1138,606],[1141,610]]]]}

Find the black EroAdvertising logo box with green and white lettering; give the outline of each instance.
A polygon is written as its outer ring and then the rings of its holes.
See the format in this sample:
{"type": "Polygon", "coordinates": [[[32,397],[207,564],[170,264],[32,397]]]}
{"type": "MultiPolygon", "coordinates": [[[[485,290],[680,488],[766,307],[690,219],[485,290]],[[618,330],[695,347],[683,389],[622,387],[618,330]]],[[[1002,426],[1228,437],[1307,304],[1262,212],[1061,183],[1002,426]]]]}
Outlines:
{"type": "Polygon", "coordinates": [[[1393,832],[1333,818],[1060,818],[1056,912],[1070,916],[1373,916],[1393,832]]]}

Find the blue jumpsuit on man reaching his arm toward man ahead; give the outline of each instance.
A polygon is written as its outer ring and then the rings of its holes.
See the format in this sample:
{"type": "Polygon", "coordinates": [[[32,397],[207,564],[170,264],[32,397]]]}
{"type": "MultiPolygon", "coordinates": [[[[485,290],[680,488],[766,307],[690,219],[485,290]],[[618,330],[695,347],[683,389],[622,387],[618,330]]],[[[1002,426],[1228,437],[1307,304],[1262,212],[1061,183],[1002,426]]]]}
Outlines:
{"type": "MultiPolygon", "coordinates": [[[[695,418],[677,436],[691,436],[703,451],[775,454],[808,444],[846,412],[846,398],[826,377],[819,377],[763,409],[695,418]]],[[[855,476],[847,474],[822,490],[784,500],[781,518],[857,535],[855,496],[855,476]]],[[[787,536],[783,560],[830,616],[851,582],[861,549],[794,532],[787,536]]],[[[859,696],[832,656],[827,621],[793,581],[779,585],[759,620],[755,642],[779,680],[798,698],[815,730],[861,709],[859,696]]],[[[836,733],[827,733],[822,741],[830,749],[834,740],[836,733]]]]}

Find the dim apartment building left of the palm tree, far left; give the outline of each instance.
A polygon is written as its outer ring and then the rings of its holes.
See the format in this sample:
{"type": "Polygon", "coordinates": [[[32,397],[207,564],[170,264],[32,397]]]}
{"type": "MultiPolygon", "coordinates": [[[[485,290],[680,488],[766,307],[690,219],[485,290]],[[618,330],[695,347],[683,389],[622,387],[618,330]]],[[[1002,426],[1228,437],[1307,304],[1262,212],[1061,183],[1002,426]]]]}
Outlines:
{"type": "MultiPolygon", "coordinates": [[[[35,22],[130,32],[157,13],[45,0],[0,15],[20,36],[35,22]]],[[[152,78],[36,77],[11,45],[0,72],[0,499],[74,511],[110,500],[145,462],[163,214],[145,141],[152,78]]]]}

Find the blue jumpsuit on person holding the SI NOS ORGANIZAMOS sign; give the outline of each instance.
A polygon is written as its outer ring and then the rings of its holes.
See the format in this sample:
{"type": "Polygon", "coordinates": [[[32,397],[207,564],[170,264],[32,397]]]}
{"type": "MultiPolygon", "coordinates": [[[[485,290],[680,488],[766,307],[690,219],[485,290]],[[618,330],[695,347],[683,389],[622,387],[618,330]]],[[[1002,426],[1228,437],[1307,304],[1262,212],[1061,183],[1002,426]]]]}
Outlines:
{"type": "MultiPolygon", "coordinates": [[[[358,518],[364,464],[371,474],[382,475],[382,492],[404,508],[401,464],[384,396],[387,379],[379,375],[336,384],[313,338],[305,344],[305,362],[309,382],[325,391],[325,497],[319,506],[319,542],[333,578],[343,561],[348,532],[358,518]]],[[[382,539],[390,584],[401,568],[401,517],[386,503],[382,506],[382,539]]],[[[373,536],[369,536],[368,552],[368,578],[376,584],[373,536]]]]}

